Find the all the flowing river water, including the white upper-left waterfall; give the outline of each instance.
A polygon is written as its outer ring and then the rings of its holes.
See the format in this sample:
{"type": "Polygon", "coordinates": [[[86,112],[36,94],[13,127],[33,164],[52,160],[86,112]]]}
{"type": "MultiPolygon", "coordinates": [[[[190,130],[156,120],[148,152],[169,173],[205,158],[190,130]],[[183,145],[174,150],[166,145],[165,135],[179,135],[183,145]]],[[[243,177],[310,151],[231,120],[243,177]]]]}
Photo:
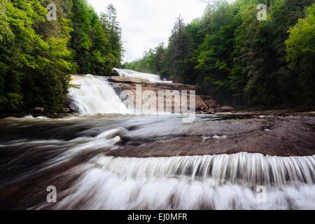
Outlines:
{"type": "Polygon", "coordinates": [[[103,78],[73,84],[80,114],[0,120],[0,209],[315,209],[314,116],[187,124],[130,114],[103,78]]]}

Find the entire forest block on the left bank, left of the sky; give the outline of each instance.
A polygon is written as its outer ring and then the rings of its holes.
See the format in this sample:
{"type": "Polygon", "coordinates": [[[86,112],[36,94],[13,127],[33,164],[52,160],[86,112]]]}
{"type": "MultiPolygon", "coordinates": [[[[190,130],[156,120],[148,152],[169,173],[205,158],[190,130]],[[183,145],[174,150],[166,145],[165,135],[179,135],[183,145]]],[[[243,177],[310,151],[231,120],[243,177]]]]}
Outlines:
{"type": "Polygon", "coordinates": [[[0,1],[0,112],[58,110],[71,73],[105,76],[122,57],[112,4],[98,15],[86,0],[0,1]]]}

